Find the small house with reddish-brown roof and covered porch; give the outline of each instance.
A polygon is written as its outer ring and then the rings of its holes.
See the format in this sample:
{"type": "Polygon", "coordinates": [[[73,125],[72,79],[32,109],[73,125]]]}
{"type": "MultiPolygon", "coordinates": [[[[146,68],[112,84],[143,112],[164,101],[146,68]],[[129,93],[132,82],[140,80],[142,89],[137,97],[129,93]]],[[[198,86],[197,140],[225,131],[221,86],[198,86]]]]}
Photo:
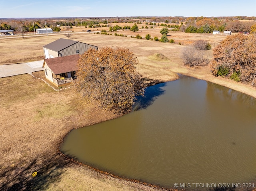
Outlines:
{"type": "Polygon", "coordinates": [[[63,56],[44,59],[44,73],[46,79],[57,87],[70,85],[76,77],[77,61],[80,55],[63,56]]]}

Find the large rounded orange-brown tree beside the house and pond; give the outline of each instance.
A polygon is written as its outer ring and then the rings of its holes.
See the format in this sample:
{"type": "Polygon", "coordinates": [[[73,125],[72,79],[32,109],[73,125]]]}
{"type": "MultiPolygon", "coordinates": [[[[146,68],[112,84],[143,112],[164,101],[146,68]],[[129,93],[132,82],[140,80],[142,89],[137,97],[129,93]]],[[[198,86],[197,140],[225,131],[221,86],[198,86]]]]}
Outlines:
{"type": "Polygon", "coordinates": [[[75,89],[84,98],[96,100],[105,109],[128,109],[135,97],[144,94],[138,63],[126,48],[89,49],[78,60],[75,89]]]}

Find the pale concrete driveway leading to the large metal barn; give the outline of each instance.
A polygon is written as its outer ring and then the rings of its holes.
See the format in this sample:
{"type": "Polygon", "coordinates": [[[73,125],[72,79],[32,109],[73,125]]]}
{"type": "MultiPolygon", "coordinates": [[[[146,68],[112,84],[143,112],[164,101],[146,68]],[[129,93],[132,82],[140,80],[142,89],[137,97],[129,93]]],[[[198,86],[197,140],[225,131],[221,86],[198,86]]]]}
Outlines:
{"type": "Polygon", "coordinates": [[[42,68],[44,60],[20,63],[20,64],[8,64],[0,65],[0,78],[15,76],[20,74],[30,74],[44,70],[42,68]]]}

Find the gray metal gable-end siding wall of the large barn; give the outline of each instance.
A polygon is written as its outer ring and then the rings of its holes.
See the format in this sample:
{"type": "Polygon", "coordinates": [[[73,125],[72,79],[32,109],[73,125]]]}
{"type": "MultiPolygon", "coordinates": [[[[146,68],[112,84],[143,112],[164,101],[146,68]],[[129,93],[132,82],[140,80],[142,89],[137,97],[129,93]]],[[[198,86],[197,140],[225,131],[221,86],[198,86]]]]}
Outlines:
{"type": "Polygon", "coordinates": [[[98,50],[98,47],[82,42],[77,42],[61,51],[58,51],[59,57],[61,56],[69,56],[76,54],[76,51],[79,50],[79,54],[83,54],[85,51],[87,51],[89,48],[93,48],[98,50]]]}

